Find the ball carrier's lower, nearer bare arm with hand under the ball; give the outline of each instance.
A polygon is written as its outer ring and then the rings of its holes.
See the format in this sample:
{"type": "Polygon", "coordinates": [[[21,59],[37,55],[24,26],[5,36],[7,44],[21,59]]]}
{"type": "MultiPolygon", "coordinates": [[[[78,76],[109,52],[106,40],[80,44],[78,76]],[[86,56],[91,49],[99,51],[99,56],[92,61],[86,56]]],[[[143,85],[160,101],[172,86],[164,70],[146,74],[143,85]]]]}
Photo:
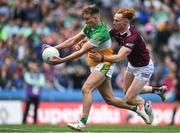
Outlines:
{"type": "Polygon", "coordinates": [[[48,64],[57,65],[57,64],[60,64],[60,63],[66,62],[66,61],[74,60],[74,59],[84,55],[85,53],[89,52],[93,48],[94,48],[93,45],[91,45],[89,42],[86,42],[80,50],[78,50],[64,58],[55,57],[54,59],[49,60],[48,64]]]}

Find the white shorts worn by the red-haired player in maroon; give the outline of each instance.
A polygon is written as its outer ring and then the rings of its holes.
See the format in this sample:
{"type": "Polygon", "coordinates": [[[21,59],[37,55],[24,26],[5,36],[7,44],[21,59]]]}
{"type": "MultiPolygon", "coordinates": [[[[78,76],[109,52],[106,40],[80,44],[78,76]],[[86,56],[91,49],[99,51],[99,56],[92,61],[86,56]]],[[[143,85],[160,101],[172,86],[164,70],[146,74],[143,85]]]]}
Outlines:
{"type": "Polygon", "coordinates": [[[135,79],[148,82],[154,72],[154,63],[151,59],[149,64],[143,67],[133,67],[130,63],[128,63],[127,72],[132,73],[135,79]]]}

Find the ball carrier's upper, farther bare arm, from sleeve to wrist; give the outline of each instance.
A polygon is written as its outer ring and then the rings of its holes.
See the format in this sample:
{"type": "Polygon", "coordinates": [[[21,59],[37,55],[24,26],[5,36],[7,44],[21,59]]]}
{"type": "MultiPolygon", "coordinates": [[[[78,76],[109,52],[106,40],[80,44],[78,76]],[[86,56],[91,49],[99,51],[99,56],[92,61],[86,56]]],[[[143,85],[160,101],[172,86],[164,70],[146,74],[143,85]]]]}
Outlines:
{"type": "Polygon", "coordinates": [[[56,45],[55,48],[64,49],[64,48],[71,47],[71,46],[77,44],[78,42],[80,42],[81,40],[83,40],[85,37],[86,36],[82,32],[80,32],[77,35],[69,38],[68,40],[56,45]]]}

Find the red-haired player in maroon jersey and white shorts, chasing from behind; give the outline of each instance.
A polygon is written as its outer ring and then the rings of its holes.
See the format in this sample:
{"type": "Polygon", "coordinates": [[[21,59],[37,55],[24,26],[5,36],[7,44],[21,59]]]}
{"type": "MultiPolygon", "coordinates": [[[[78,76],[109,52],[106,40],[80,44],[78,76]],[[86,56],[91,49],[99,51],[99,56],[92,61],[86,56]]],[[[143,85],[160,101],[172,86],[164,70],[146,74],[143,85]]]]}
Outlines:
{"type": "Polygon", "coordinates": [[[154,64],[143,37],[130,24],[134,16],[135,11],[131,8],[121,8],[114,16],[110,35],[121,47],[117,55],[103,56],[97,52],[92,52],[90,57],[96,61],[109,61],[112,63],[128,59],[128,66],[123,80],[124,100],[129,104],[142,106],[152,122],[153,112],[151,103],[150,101],[144,101],[139,94],[154,92],[164,101],[164,91],[167,87],[145,86],[154,72],[154,64]]]}

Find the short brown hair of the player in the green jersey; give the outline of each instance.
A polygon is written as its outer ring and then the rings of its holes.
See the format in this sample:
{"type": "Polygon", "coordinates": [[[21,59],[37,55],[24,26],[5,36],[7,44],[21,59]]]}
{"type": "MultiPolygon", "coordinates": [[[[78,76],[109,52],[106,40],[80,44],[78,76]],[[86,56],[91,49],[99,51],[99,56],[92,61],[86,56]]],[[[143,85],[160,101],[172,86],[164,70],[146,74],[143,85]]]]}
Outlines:
{"type": "Polygon", "coordinates": [[[84,14],[89,14],[89,15],[99,14],[99,9],[96,7],[96,5],[88,5],[82,10],[82,16],[84,14]]]}

